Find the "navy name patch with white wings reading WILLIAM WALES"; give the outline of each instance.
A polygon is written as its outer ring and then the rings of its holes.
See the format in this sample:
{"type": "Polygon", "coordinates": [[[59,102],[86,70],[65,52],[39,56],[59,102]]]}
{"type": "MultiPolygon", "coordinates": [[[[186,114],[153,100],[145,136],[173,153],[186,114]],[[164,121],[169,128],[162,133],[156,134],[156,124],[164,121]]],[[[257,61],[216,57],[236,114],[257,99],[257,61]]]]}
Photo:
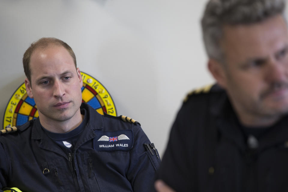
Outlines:
{"type": "Polygon", "coordinates": [[[94,149],[97,151],[129,150],[133,146],[132,130],[95,131],[94,149]]]}

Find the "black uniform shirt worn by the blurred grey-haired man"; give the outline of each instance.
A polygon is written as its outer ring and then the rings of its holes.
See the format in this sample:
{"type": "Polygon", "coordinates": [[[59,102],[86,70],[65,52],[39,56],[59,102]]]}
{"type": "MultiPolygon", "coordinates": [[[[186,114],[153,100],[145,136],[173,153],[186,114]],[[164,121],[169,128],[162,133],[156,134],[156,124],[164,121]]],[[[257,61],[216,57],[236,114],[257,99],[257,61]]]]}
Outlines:
{"type": "Polygon", "coordinates": [[[287,191],[288,117],[255,140],[214,85],[192,94],[171,129],[158,178],[181,191],[287,191]]]}

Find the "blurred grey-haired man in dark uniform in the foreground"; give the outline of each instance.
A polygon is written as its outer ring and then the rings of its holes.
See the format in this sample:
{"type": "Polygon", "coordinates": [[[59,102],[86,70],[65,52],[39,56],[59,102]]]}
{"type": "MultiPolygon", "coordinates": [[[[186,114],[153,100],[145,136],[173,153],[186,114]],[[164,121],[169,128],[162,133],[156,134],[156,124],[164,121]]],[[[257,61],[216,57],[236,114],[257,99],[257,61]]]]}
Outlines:
{"type": "Polygon", "coordinates": [[[288,189],[288,31],[284,0],[210,0],[202,18],[217,84],[188,95],[159,192],[288,189]]]}

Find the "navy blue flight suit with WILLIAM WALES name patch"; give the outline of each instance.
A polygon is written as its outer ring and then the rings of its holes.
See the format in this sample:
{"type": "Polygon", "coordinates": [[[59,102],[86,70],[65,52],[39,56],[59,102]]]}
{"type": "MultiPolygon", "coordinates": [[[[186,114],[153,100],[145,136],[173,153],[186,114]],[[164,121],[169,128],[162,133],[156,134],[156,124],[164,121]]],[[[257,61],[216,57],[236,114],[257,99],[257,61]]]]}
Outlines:
{"type": "Polygon", "coordinates": [[[71,154],[47,136],[39,118],[0,136],[0,191],[150,190],[160,159],[157,150],[147,151],[151,143],[140,124],[81,108],[88,122],[71,154]]]}

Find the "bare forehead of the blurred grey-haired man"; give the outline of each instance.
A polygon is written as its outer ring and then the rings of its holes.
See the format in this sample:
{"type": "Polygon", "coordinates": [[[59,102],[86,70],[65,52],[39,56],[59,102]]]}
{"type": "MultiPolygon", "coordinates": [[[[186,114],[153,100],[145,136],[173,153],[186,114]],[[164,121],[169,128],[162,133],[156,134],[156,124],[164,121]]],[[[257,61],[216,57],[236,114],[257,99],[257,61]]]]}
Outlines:
{"type": "Polygon", "coordinates": [[[267,58],[288,44],[286,21],[280,15],[254,24],[226,25],[222,29],[219,48],[223,61],[228,63],[267,58]]]}

